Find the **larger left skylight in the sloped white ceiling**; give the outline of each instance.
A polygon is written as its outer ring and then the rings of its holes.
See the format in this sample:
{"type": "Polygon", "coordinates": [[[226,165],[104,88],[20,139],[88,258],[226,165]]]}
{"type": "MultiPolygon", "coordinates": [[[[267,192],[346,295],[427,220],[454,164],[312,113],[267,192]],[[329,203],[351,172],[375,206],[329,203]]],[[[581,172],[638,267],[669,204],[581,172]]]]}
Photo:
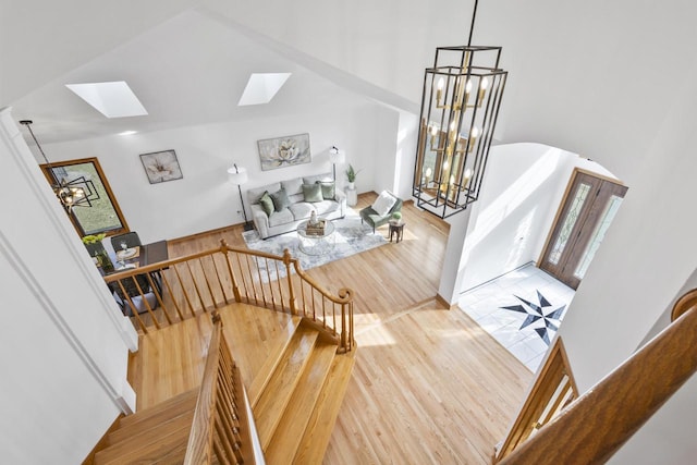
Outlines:
{"type": "Polygon", "coordinates": [[[65,84],[83,100],[107,118],[148,114],[145,107],[124,81],[113,83],[65,84]]]}

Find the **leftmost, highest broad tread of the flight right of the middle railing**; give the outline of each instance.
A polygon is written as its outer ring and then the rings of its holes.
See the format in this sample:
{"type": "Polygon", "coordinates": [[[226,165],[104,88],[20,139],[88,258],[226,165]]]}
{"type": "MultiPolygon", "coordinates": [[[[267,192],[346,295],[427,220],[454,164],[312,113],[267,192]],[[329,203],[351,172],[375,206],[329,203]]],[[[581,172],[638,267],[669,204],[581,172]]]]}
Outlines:
{"type": "Polygon", "coordinates": [[[295,389],[295,384],[309,359],[317,331],[299,327],[293,334],[290,344],[277,365],[273,375],[254,407],[254,418],[261,441],[261,449],[266,449],[273,436],[283,411],[295,389]]]}

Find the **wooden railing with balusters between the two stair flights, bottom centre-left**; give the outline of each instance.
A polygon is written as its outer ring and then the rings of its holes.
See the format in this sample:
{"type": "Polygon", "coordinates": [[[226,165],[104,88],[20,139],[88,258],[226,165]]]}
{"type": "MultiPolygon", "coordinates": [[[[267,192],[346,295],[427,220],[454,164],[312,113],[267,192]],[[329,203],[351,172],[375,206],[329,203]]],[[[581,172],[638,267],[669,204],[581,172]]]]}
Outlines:
{"type": "Polygon", "coordinates": [[[254,464],[252,424],[247,418],[240,369],[232,358],[217,313],[213,313],[212,321],[213,331],[184,464],[210,464],[213,457],[221,464],[254,464]]]}

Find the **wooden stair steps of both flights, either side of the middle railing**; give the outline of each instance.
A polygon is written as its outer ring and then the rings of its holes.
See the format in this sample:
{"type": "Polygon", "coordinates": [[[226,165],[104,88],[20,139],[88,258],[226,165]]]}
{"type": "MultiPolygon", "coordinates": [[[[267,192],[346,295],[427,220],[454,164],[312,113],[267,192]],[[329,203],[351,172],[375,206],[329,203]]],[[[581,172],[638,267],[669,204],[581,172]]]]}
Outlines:
{"type": "MultiPolygon", "coordinates": [[[[266,463],[320,464],[351,377],[355,351],[337,354],[299,318],[259,368],[247,395],[266,463]]],[[[95,464],[184,462],[198,390],[123,417],[95,464]]]]}

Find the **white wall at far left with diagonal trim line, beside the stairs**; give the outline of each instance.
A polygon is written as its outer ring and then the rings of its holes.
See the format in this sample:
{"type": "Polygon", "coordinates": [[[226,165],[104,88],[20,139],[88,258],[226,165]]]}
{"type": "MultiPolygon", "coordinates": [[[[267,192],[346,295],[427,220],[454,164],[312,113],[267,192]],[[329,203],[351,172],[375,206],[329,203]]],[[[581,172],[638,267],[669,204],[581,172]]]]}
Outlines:
{"type": "Polygon", "coordinates": [[[137,335],[36,166],[10,111],[0,110],[0,456],[80,463],[121,412],[137,335]]]}

